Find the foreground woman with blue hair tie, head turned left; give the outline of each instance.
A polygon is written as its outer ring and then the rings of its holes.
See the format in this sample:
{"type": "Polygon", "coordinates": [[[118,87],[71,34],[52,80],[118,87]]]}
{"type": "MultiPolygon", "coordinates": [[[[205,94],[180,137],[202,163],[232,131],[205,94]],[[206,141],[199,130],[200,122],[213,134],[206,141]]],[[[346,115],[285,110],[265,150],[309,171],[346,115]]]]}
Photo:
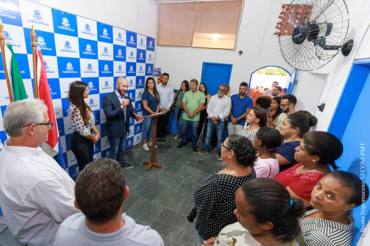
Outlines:
{"type": "Polygon", "coordinates": [[[288,246],[297,237],[305,208],[279,182],[270,178],[245,182],[236,191],[235,202],[238,222],[221,230],[215,246],[288,246]]]}

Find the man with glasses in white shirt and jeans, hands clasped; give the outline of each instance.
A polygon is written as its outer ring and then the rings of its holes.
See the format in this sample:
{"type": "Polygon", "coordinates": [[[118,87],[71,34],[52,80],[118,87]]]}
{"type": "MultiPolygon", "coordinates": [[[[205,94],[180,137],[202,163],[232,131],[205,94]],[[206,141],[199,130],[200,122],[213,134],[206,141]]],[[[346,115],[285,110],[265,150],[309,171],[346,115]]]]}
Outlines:
{"type": "Polygon", "coordinates": [[[208,113],[208,123],[207,123],[207,136],[206,142],[204,144],[204,150],[198,152],[198,154],[208,153],[209,144],[211,143],[211,137],[213,130],[216,130],[217,136],[217,149],[216,156],[218,160],[221,159],[221,143],[223,141],[223,131],[225,126],[225,118],[229,115],[231,109],[231,99],[225,95],[227,91],[226,84],[221,84],[218,88],[217,95],[211,97],[209,100],[207,113],[208,113]]]}

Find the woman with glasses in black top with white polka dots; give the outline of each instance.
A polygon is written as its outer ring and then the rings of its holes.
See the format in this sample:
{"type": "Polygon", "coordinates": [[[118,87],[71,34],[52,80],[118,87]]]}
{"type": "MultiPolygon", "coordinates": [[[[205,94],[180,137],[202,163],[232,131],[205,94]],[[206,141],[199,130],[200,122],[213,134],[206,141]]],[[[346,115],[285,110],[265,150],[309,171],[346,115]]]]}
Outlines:
{"type": "Polygon", "coordinates": [[[253,169],[256,149],[246,137],[229,136],[221,144],[221,158],[226,168],[205,178],[194,192],[195,229],[201,244],[216,238],[222,228],[237,221],[233,213],[236,208],[235,192],[246,181],[256,178],[253,169]]]}

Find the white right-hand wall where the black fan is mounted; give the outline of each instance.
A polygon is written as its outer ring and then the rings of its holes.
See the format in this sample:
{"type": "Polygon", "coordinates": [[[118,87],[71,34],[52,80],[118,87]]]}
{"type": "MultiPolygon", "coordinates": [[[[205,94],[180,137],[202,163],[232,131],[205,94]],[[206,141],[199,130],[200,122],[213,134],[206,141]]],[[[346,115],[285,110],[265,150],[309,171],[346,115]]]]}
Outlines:
{"type": "MultiPolygon", "coordinates": [[[[348,0],[346,3],[348,5],[350,14],[350,27],[347,37],[354,40],[353,49],[349,56],[344,57],[339,53],[331,62],[329,62],[329,64],[314,71],[318,74],[329,74],[322,97],[320,99],[320,103],[326,103],[325,109],[323,112],[317,110],[315,113],[315,116],[318,119],[317,130],[321,131],[326,131],[329,127],[330,120],[332,119],[336,109],[353,60],[370,57],[370,45],[368,45],[370,33],[367,30],[370,23],[370,15],[367,11],[370,8],[370,1],[348,0]]],[[[296,92],[304,91],[303,88],[307,85],[305,83],[306,76],[307,72],[298,72],[297,83],[295,87],[296,92]]],[[[299,93],[295,93],[295,95],[297,98],[300,96],[299,93]]]]}

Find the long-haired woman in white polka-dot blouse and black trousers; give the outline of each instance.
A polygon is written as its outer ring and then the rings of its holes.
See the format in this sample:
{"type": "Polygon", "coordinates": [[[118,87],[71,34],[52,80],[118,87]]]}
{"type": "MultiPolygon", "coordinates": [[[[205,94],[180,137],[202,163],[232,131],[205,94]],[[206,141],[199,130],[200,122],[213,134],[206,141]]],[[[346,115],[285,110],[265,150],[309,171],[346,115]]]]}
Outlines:
{"type": "Polygon", "coordinates": [[[73,127],[70,145],[80,171],[92,161],[94,144],[98,142],[100,137],[95,126],[94,112],[84,101],[85,98],[89,97],[89,92],[85,82],[74,81],[71,83],[67,97],[70,103],[68,117],[73,127]]]}

